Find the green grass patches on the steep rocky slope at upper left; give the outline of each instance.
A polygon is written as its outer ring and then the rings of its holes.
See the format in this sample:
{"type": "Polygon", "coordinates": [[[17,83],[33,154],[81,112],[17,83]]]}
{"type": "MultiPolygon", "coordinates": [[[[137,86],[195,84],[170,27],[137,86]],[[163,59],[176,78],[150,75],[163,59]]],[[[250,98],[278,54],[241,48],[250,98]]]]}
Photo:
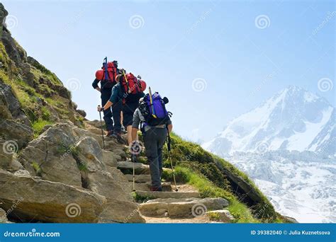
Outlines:
{"type": "MultiPolygon", "coordinates": [[[[22,49],[16,42],[16,47],[22,49]]],[[[35,137],[43,130],[45,125],[55,122],[52,113],[65,120],[78,121],[82,123],[82,117],[74,115],[71,100],[62,98],[52,86],[63,86],[55,74],[43,67],[38,62],[30,65],[30,73],[33,74],[33,86],[28,84],[21,75],[21,70],[9,58],[4,44],[0,41],[0,79],[11,86],[13,93],[21,104],[21,108],[30,120],[34,129],[35,137]],[[40,80],[44,80],[43,83],[40,80]],[[46,83],[50,83],[47,85],[46,83]],[[41,104],[41,101],[43,104],[41,104]]]]}

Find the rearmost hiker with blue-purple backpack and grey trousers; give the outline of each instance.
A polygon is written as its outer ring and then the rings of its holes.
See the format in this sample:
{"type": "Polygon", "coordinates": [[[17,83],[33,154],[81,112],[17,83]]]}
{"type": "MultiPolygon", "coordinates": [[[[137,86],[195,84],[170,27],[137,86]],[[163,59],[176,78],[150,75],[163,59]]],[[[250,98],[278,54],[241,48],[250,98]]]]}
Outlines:
{"type": "MultiPolygon", "coordinates": [[[[133,115],[132,139],[130,147],[137,150],[140,146],[137,141],[139,126],[141,126],[142,138],[145,144],[146,156],[150,164],[150,175],[152,178],[152,191],[162,191],[162,147],[164,146],[167,132],[172,132],[172,121],[165,108],[168,98],[161,98],[159,93],[147,94],[140,100],[139,108],[133,115]],[[133,148],[133,147],[134,148],[133,148]]],[[[136,155],[133,154],[132,161],[136,162],[136,155]]]]}

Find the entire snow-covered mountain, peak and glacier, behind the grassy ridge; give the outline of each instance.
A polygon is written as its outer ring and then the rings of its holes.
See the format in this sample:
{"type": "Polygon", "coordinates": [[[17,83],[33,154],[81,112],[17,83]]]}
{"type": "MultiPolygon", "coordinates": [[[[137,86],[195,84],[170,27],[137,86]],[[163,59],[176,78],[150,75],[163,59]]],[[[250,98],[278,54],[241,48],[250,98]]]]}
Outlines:
{"type": "Polygon", "coordinates": [[[202,146],[250,175],[281,214],[336,222],[335,144],[335,108],[289,86],[202,146]]]}

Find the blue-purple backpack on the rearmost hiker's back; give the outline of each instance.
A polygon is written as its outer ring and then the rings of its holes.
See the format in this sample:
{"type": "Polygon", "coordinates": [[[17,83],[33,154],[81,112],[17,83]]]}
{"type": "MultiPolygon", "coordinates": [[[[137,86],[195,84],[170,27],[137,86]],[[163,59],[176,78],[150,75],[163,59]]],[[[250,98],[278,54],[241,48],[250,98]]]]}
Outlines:
{"type": "Polygon", "coordinates": [[[145,125],[150,125],[152,127],[157,125],[165,125],[169,120],[169,115],[171,113],[167,112],[166,102],[167,98],[161,98],[159,93],[146,94],[142,102],[139,105],[140,113],[145,118],[145,125]]]}

